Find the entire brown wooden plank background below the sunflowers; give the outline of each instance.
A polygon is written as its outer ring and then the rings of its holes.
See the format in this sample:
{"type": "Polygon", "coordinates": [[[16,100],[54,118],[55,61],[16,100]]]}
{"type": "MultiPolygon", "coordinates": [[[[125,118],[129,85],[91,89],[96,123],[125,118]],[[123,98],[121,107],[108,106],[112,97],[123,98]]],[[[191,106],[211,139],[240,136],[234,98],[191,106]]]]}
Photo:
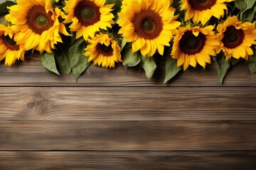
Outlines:
{"type": "MultiPolygon", "coordinates": [[[[4,1],[4,0],[0,0],[4,1]]],[[[0,169],[256,169],[256,74],[215,66],[163,84],[93,65],[78,83],[37,57],[0,64],[0,169]]]]}

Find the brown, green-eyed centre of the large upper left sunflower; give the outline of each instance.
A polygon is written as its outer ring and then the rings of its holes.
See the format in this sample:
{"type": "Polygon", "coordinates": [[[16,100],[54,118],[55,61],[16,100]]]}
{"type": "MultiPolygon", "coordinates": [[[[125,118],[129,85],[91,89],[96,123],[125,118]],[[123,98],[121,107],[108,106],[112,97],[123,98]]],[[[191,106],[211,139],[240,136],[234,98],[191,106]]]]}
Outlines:
{"type": "Polygon", "coordinates": [[[48,30],[54,24],[51,16],[52,12],[46,13],[46,9],[43,6],[32,6],[26,16],[28,27],[33,30],[34,33],[41,35],[43,31],[48,30]]]}

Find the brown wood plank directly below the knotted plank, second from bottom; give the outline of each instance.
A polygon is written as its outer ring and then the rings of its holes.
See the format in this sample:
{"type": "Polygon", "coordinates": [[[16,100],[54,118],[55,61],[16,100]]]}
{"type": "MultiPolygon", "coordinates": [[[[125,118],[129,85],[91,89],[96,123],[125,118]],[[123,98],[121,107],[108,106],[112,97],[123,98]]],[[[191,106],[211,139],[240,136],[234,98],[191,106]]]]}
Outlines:
{"type": "Polygon", "coordinates": [[[18,121],[0,123],[0,150],[256,151],[255,134],[255,121],[18,121]]]}

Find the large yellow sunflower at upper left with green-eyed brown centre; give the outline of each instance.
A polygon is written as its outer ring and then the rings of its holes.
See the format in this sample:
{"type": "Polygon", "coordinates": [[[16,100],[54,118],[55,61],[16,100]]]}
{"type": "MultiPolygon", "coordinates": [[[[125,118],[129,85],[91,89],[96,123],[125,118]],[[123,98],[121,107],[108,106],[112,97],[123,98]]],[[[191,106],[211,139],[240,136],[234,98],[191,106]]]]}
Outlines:
{"type": "Polygon", "coordinates": [[[53,53],[54,45],[63,42],[59,32],[69,35],[64,24],[59,22],[59,17],[65,18],[65,14],[53,8],[50,0],[17,0],[9,10],[6,19],[21,30],[17,42],[25,44],[25,50],[53,53]]]}

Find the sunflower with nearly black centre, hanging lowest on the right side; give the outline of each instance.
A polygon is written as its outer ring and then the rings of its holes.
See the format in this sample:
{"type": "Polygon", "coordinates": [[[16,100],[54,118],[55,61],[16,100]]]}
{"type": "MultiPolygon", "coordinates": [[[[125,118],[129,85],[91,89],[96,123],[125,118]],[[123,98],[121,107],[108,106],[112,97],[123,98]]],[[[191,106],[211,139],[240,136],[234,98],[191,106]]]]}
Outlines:
{"type": "Polygon", "coordinates": [[[189,25],[178,28],[171,51],[171,56],[177,59],[178,67],[183,65],[185,71],[189,65],[196,67],[198,63],[206,68],[206,63],[210,64],[210,55],[216,56],[215,48],[220,45],[213,28],[189,25]]]}

